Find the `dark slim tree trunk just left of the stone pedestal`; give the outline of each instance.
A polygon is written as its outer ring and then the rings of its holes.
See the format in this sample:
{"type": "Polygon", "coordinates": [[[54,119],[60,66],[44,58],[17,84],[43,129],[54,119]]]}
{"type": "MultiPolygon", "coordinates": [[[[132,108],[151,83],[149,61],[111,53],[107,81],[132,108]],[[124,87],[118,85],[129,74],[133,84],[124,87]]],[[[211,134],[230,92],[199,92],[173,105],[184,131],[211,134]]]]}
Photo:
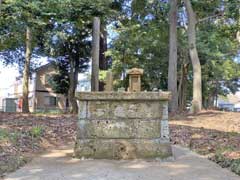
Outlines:
{"type": "Polygon", "coordinates": [[[78,83],[78,68],[79,61],[70,59],[70,73],[69,73],[69,89],[68,89],[68,100],[70,103],[70,113],[77,114],[78,105],[75,98],[75,91],[78,83]]]}

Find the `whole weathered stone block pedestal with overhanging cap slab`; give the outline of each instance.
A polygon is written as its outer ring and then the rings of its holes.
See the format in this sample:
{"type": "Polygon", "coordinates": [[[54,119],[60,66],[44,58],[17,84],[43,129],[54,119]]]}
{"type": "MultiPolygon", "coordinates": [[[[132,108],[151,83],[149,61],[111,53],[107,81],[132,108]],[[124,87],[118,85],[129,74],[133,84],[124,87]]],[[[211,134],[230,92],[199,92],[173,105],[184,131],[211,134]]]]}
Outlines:
{"type": "Polygon", "coordinates": [[[75,156],[96,159],[172,155],[168,92],[80,92],[75,156]]]}

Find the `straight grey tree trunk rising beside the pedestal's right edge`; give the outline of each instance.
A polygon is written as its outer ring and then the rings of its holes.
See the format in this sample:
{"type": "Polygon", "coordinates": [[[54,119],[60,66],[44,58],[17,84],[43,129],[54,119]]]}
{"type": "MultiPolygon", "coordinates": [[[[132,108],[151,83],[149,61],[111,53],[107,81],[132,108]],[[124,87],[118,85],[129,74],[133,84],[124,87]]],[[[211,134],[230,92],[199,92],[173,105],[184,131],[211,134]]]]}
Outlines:
{"type": "Polygon", "coordinates": [[[170,1],[170,31],[169,31],[169,64],[168,64],[168,90],[172,93],[169,110],[178,110],[177,92],[177,0],[170,1]]]}

